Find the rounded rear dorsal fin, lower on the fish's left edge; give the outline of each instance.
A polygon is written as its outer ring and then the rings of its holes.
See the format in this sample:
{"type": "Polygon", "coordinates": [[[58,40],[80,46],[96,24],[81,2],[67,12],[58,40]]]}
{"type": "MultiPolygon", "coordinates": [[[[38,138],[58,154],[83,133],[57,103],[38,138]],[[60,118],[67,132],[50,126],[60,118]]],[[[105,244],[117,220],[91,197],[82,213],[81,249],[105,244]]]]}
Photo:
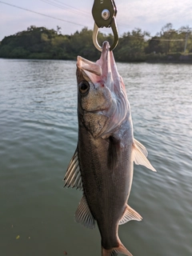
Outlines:
{"type": "Polygon", "coordinates": [[[83,226],[89,227],[90,229],[93,229],[95,226],[95,220],[90,212],[89,206],[87,205],[85,195],[82,196],[78,209],[75,212],[75,221],[82,223],[83,226]]]}

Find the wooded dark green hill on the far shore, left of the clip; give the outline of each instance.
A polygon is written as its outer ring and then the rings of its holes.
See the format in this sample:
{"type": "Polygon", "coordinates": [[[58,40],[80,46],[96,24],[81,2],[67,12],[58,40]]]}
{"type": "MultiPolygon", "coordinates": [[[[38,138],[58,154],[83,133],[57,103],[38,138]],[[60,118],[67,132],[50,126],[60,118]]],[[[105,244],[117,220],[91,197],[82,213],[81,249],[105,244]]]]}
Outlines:
{"type": "Polygon", "coordinates": [[[62,35],[45,27],[30,26],[27,30],[3,38],[1,58],[75,59],[77,54],[97,57],[92,31],[83,29],[73,35],[62,35]]]}

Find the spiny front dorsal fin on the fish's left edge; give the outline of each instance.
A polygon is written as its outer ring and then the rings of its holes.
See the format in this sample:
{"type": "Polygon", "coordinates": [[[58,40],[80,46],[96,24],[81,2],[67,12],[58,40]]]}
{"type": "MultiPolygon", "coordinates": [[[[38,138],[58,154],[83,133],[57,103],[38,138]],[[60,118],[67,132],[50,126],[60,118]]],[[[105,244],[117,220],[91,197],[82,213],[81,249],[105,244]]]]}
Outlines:
{"type": "Polygon", "coordinates": [[[64,186],[76,187],[77,189],[82,190],[82,176],[78,164],[78,146],[74,152],[73,158],[70,160],[63,181],[65,182],[64,186]]]}

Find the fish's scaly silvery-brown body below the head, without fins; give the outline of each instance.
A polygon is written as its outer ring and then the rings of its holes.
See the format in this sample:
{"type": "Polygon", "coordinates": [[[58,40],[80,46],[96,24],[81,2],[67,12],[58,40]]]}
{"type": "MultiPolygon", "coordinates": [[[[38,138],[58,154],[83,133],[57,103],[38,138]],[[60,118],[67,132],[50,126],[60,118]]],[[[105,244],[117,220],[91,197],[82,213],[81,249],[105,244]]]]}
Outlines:
{"type": "Polygon", "coordinates": [[[109,139],[96,138],[82,127],[78,134],[78,158],[87,204],[106,249],[118,246],[118,222],[126,210],[133,178],[131,146],[117,146],[110,166],[109,139]]]}

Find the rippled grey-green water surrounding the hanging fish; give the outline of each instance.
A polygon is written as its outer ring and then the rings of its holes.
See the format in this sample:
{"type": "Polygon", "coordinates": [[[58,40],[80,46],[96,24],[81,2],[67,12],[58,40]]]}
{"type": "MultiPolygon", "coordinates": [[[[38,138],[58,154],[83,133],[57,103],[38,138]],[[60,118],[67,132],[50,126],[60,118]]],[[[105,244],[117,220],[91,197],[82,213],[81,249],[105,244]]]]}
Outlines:
{"type": "MultiPolygon", "coordinates": [[[[191,66],[118,70],[134,136],[158,170],[134,166],[129,204],[143,220],[120,226],[119,236],[134,256],[191,256],[191,66]]],[[[98,228],[74,222],[82,193],[62,188],[77,144],[76,107],[75,62],[0,59],[2,256],[101,255],[98,228]]]]}

